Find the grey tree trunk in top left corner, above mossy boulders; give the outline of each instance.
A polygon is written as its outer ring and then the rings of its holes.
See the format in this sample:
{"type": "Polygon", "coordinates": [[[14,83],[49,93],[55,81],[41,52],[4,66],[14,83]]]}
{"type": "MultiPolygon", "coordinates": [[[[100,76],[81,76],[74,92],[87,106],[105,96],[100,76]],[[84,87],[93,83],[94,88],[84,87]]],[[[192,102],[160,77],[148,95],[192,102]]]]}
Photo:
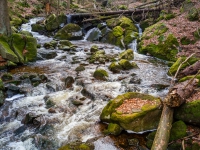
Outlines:
{"type": "Polygon", "coordinates": [[[0,34],[11,35],[7,0],[0,0],[0,34]]]}

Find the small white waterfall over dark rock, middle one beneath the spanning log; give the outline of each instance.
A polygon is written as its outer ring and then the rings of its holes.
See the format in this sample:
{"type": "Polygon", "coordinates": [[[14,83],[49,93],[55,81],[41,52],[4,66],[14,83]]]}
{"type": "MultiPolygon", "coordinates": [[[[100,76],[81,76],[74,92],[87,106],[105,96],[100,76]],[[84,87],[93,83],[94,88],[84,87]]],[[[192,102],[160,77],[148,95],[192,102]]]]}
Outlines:
{"type": "Polygon", "coordinates": [[[92,28],[86,33],[84,40],[97,41],[100,37],[101,31],[98,28],[92,28]]]}

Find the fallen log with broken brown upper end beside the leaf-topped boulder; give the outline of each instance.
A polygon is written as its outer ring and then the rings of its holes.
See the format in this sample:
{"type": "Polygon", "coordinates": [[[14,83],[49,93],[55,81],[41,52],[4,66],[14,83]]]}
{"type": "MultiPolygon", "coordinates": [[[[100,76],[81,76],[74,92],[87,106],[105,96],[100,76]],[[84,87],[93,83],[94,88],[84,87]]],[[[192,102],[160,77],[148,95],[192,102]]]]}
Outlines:
{"type": "Polygon", "coordinates": [[[198,80],[192,79],[175,85],[164,100],[164,107],[151,150],[166,150],[173,121],[174,107],[180,106],[193,93],[198,80]]]}

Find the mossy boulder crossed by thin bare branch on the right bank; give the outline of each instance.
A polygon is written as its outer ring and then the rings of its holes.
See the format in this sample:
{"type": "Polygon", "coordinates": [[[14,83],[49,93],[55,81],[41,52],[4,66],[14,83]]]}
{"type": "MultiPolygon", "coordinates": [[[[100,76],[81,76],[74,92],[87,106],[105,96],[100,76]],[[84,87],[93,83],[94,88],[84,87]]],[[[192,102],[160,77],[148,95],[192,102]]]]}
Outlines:
{"type": "MultiPolygon", "coordinates": [[[[178,67],[180,66],[180,64],[185,61],[187,57],[179,57],[176,62],[170,67],[169,71],[168,71],[168,75],[175,75],[178,67]]],[[[196,57],[191,57],[188,59],[187,62],[185,62],[182,66],[181,66],[181,70],[183,70],[184,68],[188,67],[189,65],[194,64],[195,62],[197,62],[199,59],[196,57]]]]}

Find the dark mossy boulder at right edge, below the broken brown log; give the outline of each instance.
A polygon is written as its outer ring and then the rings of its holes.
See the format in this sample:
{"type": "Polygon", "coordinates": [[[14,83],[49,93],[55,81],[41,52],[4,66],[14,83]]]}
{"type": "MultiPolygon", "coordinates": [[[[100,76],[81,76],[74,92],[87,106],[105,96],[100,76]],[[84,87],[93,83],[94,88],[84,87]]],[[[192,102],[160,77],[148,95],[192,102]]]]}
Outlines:
{"type": "Polygon", "coordinates": [[[186,123],[200,125],[200,100],[187,102],[175,109],[175,119],[182,120],[186,123]]]}

